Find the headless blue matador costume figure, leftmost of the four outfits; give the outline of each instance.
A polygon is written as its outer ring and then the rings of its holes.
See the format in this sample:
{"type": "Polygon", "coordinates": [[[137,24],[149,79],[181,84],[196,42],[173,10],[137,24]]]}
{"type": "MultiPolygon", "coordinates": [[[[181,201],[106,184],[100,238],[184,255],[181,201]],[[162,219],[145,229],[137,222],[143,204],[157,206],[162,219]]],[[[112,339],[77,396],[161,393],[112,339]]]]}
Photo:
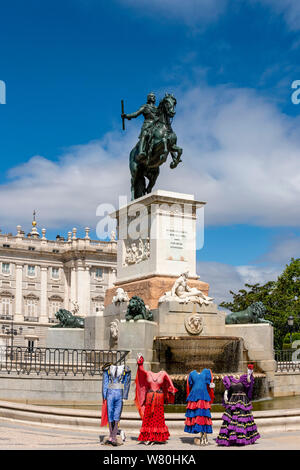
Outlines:
{"type": "MultiPolygon", "coordinates": [[[[128,399],[131,371],[129,367],[113,364],[103,368],[101,426],[109,427],[107,445],[117,446],[119,421],[123,409],[123,400],[128,399]]],[[[125,436],[122,436],[125,440],[125,436]]]]}

